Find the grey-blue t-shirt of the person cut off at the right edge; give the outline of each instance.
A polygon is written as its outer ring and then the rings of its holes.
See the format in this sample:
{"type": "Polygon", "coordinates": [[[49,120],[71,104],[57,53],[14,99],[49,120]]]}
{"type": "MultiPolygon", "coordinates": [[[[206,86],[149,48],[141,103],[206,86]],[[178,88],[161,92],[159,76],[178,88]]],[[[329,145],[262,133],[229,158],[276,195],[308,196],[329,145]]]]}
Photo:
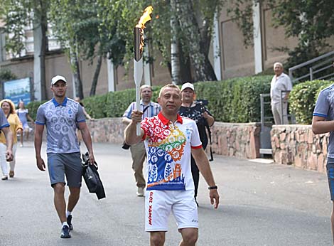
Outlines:
{"type": "MultiPolygon", "coordinates": [[[[324,117],[326,120],[334,119],[334,84],[322,90],[318,96],[313,116],[324,117]]],[[[330,132],[328,142],[329,158],[334,158],[334,135],[330,132]]]]}

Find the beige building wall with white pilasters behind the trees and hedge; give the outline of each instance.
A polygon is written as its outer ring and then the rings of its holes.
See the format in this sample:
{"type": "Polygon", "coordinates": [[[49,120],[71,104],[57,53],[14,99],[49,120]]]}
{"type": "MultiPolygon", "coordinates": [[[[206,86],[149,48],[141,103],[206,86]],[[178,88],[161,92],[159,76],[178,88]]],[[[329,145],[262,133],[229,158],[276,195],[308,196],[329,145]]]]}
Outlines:
{"type": "MultiPolygon", "coordinates": [[[[212,38],[210,48],[210,60],[215,68],[218,80],[230,77],[254,75],[267,68],[271,68],[274,62],[284,62],[288,57],[286,53],[274,50],[274,48],[286,46],[293,48],[297,44],[296,38],[286,38],[283,28],[273,28],[271,23],[271,10],[265,4],[253,6],[254,11],[254,46],[244,47],[244,38],[237,24],[227,15],[225,9],[215,21],[215,36],[212,38]]],[[[0,23],[1,27],[1,23],[0,23]]],[[[4,51],[4,33],[0,28],[0,68],[11,70],[18,78],[31,77],[34,84],[38,84],[36,77],[36,60],[34,59],[34,43],[32,27],[26,29],[27,38],[26,53],[22,58],[11,58],[4,51]],[[34,68],[35,67],[35,68],[34,68]]],[[[51,33],[52,34],[52,33],[51,33]]],[[[46,87],[50,85],[50,78],[54,75],[64,75],[68,78],[68,96],[74,97],[72,84],[72,72],[70,61],[65,53],[60,50],[59,44],[54,38],[49,40],[49,50],[45,61],[46,87]]],[[[149,49],[146,49],[149,50],[149,49]]],[[[152,55],[152,54],[150,54],[152,55]]],[[[153,54],[155,61],[152,64],[144,64],[143,83],[149,85],[165,85],[171,82],[171,75],[168,68],[161,65],[161,55],[153,54]]],[[[35,54],[36,57],[36,54],[35,54]]],[[[84,96],[90,93],[92,78],[95,72],[96,61],[90,65],[89,61],[80,60],[80,77],[84,96]]],[[[133,68],[125,70],[124,67],[114,68],[109,60],[104,60],[97,82],[97,95],[108,91],[124,90],[134,87],[133,68]]],[[[38,91],[35,88],[35,91],[38,91]]],[[[47,90],[48,98],[52,95],[47,90]]],[[[36,96],[38,99],[38,96],[36,96]]]]}

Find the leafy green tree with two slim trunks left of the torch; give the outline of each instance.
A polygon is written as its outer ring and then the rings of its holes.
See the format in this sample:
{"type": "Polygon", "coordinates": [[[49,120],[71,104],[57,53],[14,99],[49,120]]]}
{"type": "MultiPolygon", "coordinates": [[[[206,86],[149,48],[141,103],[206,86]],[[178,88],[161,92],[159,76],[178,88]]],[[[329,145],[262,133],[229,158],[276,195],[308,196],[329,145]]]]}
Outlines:
{"type": "MultiPolygon", "coordinates": [[[[125,42],[122,29],[117,28],[119,13],[114,6],[117,1],[53,0],[51,4],[55,34],[70,55],[72,69],[80,75],[76,65],[79,57],[90,60],[91,65],[97,58],[90,95],[95,95],[102,60],[111,59],[117,66],[124,58],[125,42]],[[109,9],[104,9],[106,6],[109,9]]],[[[78,81],[76,87],[77,96],[82,97],[82,83],[78,81]]]]}

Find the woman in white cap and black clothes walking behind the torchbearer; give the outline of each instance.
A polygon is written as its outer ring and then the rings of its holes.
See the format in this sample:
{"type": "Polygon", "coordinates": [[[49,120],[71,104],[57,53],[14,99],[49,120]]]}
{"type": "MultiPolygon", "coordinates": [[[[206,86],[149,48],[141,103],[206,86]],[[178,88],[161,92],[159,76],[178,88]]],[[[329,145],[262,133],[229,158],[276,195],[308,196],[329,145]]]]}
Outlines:
{"type": "MultiPolygon", "coordinates": [[[[208,146],[208,135],[205,127],[211,127],[213,123],[215,123],[215,118],[212,117],[209,110],[202,104],[195,103],[195,89],[193,84],[186,82],[181,87],[181,95],[182,95],[182,105],[179,110],[179,114],[184,117],[188,117],[190,119],[195,120],[198,132],[200,134],[200,141],[202,141],[203,149],[208,146]]],[[[200,171],[198,170],[198,166],[191,156],[191,173],[193,174],[193,181],[195,185],[195,200],[198,193],[198,183],[200,181],[200,171]]],[[[198,202],[196,200],[198,205],[198,202]]]]}

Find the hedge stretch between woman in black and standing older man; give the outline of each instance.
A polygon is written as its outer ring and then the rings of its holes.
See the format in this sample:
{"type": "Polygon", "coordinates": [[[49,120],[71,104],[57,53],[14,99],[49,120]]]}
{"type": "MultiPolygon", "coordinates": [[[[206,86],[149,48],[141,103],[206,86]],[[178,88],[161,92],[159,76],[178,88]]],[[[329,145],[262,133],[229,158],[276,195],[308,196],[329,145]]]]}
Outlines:
{"type": "MultiPolygon", "coordinates": [[[[272,76],[237,77],[195,83],[198,99],[209,101],[208,109],[219,122],[259,122],[260,94],[270,92],[272,76]]],[[[270,107],[265,114],[271,115],[270,107]]]]}

